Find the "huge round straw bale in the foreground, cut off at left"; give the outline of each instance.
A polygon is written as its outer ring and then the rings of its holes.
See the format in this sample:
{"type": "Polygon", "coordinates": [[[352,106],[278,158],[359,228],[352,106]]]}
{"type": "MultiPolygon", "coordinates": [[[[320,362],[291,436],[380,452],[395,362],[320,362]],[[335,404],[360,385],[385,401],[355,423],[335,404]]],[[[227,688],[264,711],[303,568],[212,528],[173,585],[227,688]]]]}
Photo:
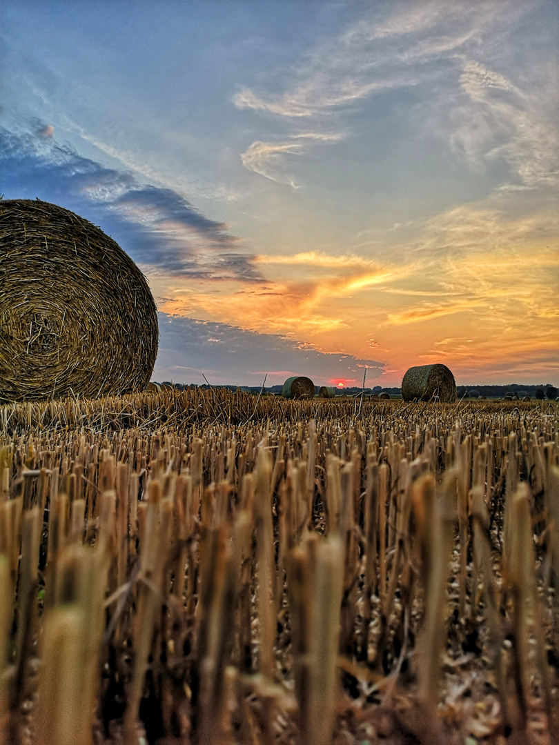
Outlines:
{"type": "Polygon", "coordinates": [[[0,401],[143,390],[157,308],[98,227],[40,200],[0,200],[0,401]]]}

